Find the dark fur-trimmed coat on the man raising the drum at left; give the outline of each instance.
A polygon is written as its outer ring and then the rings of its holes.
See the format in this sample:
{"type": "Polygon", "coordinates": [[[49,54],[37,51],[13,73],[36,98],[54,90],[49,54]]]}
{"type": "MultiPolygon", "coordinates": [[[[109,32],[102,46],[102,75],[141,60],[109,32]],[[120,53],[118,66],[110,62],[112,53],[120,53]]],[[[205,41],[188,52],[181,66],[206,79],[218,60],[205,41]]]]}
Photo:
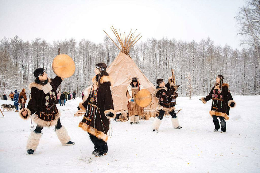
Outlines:
{"type": "Polygon", "coordinates": [[[32,120],[39,126],[55,126],[60,117],[55,104],[57,99],[56,90],[62,80],[62,78],[56,76],[53,79],[48,78],[48,82],[45,85],[36,82],[30,83],[29,90],[31,90],[31,96],[27,108],[25,108],[28,114],[24,117],[21,109],[19,111],[21,118],[27,119],[32,116],[32,120]]]}

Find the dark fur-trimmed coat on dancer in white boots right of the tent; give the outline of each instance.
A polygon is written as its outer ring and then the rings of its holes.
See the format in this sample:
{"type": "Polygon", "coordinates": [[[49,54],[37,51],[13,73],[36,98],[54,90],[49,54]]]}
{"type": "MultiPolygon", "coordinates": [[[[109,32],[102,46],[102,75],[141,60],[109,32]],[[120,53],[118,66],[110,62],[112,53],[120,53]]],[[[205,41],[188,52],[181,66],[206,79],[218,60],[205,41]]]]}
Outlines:
{"type": "Polygon", "coordinates": [[[174,85],[173,82],[168,83],[164,87],[157,86],[153,92],[153,96],[158,98],[157,111],[161,109],[171,112],[175,109],[176,98],[178,97],[177,88],[180,85],[174,85]],[[175,95],[175,96],[172,96],[175,95]]]}

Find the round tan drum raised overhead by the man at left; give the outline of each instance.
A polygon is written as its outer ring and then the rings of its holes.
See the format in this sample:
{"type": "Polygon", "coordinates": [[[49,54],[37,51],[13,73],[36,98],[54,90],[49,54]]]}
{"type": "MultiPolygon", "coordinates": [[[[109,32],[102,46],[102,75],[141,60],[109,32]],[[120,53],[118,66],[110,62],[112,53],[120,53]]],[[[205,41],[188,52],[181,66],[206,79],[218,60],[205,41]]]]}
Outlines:
{"type": "Polygon", "coordinates": [[[60,54],[53,59],[52,70],[57,76],[68,78],[75,72],[75,63],[69,55],[60,54]]]}

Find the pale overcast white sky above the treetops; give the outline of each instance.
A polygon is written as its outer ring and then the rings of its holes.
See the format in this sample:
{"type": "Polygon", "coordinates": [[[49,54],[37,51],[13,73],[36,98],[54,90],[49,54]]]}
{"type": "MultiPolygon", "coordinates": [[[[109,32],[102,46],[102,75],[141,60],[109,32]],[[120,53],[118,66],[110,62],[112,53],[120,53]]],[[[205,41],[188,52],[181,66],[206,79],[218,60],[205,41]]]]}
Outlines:
{"type": "Polygon", "coordinates": [[[216,45],[240,49],[234,17],[243,5],[243,0],[0,0],[0,39],[17,35],[52,43],[74,37],[99,43],[105,36],[103,29],[113,36],[113,25],[126,33],[138,29],[142,41],[210,37],[216,45]]]}

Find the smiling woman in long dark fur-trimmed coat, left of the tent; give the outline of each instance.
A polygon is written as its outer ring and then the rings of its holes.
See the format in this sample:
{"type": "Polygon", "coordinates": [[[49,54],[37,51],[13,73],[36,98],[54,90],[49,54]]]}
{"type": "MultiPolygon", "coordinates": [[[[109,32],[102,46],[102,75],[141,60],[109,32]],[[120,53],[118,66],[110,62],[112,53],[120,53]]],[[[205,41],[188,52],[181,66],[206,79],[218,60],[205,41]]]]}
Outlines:
{"type": "Polygon", "coordinates": [[[86,111],[79,127],[87,131],[94,144],[93,155],[100,157],[107,154],[107,132],[110,119],[115,118],[114,104],[111,92],[113,80],[106,72],[107,65],[103,62],[96,64],[92,88],[84,103],[79,104],[86,111]]]}

